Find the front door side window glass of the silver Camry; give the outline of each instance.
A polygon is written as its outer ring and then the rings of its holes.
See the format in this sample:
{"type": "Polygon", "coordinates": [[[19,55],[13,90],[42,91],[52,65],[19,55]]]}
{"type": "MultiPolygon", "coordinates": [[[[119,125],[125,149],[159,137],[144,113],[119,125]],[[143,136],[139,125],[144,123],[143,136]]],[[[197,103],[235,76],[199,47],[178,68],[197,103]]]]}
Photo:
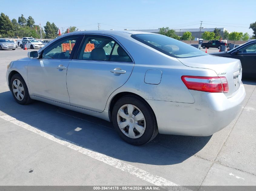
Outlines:
{"type": "Polygon", "coordinates": [[[79,35],[63,37],[43,50],[42,59],[71,59],[79,35]]]}

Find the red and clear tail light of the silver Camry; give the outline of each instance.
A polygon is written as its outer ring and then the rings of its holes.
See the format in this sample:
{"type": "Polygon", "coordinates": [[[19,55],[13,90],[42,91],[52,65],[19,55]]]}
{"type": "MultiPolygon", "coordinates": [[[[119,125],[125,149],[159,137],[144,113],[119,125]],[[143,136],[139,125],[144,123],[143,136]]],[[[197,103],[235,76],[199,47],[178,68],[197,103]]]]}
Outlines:
{"type": "Polygon", "coordinates": [[[205,92],[228,92],[226,77],[181,76],[181,80],[189,90],[205,92]]]}

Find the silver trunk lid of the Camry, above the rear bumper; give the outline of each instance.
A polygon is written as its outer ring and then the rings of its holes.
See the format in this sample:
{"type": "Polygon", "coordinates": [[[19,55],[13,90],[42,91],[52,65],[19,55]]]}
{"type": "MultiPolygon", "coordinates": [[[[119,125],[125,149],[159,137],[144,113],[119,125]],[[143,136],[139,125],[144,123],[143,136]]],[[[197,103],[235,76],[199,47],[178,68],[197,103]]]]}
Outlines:
{"type": "Polygon", "coordinates": [[[228,80],[229,87],[228,93],[224,93],[226,97],[234,96],[240,87],[242,66],[238,59],[207,55],[192,58],[178,58],[178,60],[188,67],[211,69],[216,72],[217,76],[225,76],[228,80]]]}

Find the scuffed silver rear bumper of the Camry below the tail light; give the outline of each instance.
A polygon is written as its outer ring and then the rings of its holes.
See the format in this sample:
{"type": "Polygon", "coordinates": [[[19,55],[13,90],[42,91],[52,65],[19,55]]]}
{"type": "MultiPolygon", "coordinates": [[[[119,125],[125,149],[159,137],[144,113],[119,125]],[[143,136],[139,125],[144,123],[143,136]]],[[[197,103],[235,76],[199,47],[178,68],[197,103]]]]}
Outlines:
{"type": "Polygon", "coordinates": [[[228,126],[240,113],[244,85],[231,98],[224,93],[191,90],[194,103],[147,100],[155,112],[161,134],[209,136],[228,126]]]}

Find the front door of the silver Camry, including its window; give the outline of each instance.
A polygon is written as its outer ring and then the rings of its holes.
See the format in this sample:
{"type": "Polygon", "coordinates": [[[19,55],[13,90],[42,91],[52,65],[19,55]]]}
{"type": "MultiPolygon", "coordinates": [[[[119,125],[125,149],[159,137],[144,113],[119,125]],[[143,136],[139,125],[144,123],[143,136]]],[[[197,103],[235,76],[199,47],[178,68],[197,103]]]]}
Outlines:
{"type": "Polygon", "coordinates": [[[28,63],[28,84],[33,96],[70,105],[66,85],[68,64],[82,35],[63,37],[28,63]]]}

